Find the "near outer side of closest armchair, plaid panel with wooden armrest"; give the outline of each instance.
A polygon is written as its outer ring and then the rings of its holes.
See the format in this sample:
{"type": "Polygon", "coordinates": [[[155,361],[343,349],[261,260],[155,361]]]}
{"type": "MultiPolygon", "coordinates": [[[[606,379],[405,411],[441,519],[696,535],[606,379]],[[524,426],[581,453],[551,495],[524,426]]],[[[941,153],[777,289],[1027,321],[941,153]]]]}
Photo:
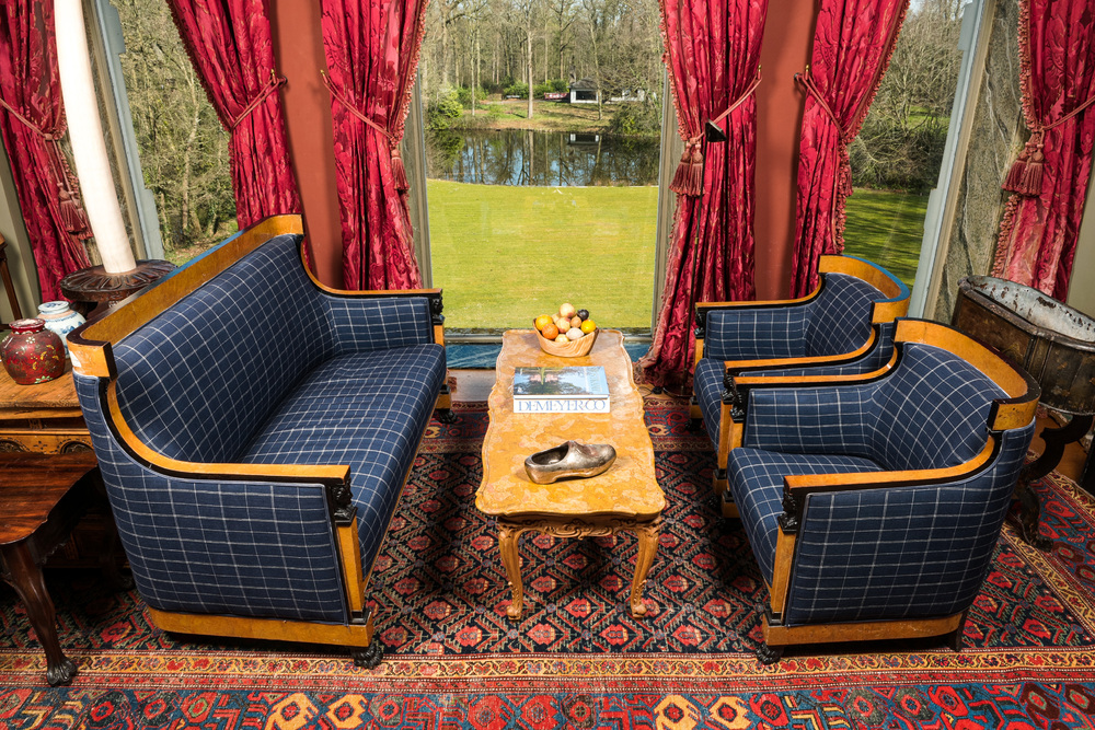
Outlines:
{"type": "Polygon", "coordinates": [[[945,468],[785,477],[772,613],[795,625],[855,621],[868,603],[874,617],[961,611],[983,578],[1033,432],[1031,422],[992,433],[976,456],[945,468]],[[940,590],[915,590],[924,581],[940,590]],[[910,606],[913,594],[922,605],[910,606]]]}

